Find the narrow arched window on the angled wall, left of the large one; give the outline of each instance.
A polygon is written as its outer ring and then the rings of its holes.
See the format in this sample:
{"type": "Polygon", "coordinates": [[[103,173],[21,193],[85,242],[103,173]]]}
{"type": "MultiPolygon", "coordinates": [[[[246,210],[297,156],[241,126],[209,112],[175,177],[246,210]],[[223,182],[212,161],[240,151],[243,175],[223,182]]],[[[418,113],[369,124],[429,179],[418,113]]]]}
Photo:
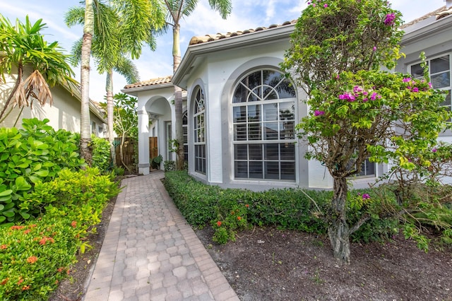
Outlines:
{"type": "Polygon", "coordinates": [[[194,102],[195,171],[206,175],[206,102],[201,88],[198,88],[194,102]]]}

